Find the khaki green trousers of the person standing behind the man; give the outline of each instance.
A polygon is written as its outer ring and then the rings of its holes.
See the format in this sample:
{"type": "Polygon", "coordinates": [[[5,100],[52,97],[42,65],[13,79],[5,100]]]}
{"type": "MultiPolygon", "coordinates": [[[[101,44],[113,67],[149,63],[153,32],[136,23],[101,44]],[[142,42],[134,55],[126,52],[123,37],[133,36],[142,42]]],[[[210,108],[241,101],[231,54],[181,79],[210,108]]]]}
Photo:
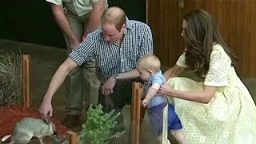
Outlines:
{"type": "MultiPolygon", "coordinates": [[[[70,23],[71,29],[74,34],[82,40],[82,34],[86,29],[86,23],[88,23],[90,14],[85,14],[82,17],[78,17],[71,12],[66,13],[66,18],[70,23]]],[[[70,41],[66,38],[67,54],[70,54],[70,41]]],[[[82,66],[78,66],[76,70],[66,78],[66,114],[78,115],[82,114],[83,98],[86,98],[86,105],[98,104],[98,87],[99,80],[95,74],[95,59],[90,59],[89,62],[84,62],[82,66]]]]}

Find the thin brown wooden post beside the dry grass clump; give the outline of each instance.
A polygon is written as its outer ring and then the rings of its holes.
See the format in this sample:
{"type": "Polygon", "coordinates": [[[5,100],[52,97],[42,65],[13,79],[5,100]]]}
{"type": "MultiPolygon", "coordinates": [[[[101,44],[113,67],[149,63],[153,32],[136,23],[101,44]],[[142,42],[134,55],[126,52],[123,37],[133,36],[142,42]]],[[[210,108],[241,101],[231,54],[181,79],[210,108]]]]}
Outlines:
{"type": "Polygon", "coordinates": [[[23,107],[31,106],[30,100],[30,55],[22,55],[22,87],[23,87],[23,107]]]}

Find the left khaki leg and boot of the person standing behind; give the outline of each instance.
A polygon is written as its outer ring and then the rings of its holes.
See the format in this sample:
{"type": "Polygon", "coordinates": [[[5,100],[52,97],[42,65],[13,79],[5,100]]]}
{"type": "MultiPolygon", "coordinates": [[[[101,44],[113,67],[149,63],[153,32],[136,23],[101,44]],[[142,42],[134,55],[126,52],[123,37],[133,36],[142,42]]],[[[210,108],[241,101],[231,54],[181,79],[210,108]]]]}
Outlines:
{"type": "MultiPolygon", "coordinates": [[[[70,23],[71,29],[78,38],[82,38],[83,24],[79,22],[79,18],[74,14],[66,14],[70,23]]],[[[66,38],[67,54],[70,54],[70,41],[66,38]]],[[[66,118],[63,124],[68,127],[73,127],[78,123],[78,119],[82,113],[82,98],[83,98],[84,84],[82,67],[78,66],[77,69],[72,70],[66,78],[66,118]]]]}

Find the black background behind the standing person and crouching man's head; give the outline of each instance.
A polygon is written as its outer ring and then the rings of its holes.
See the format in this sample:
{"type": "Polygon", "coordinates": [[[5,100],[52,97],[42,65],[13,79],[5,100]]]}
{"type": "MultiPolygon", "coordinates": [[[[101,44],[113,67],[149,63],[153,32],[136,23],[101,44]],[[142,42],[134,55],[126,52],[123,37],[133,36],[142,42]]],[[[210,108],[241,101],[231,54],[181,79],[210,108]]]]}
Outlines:
{"type": "MultiPolygon", "coordinates": [[[[109,0],[130,19],[146,21],[146,0],[109,0]]],[[[0,4],[0,38],[66,48],[62,31],[44,0],[8,0],[0,4]]]]}

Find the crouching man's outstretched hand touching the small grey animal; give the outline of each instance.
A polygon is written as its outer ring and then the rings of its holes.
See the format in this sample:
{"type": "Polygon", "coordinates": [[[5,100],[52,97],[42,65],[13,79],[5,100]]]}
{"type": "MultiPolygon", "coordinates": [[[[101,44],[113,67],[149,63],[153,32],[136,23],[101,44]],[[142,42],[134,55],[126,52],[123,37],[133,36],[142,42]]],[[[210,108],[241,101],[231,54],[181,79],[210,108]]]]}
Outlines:
{"type": "Polygon", "coordinates": [[[41,114],[41,118],[50,123],[50,117],[53,116],[53,107],[51,106],[51,102],[46,100],[42,101],[39,112],[41,114]]]}

